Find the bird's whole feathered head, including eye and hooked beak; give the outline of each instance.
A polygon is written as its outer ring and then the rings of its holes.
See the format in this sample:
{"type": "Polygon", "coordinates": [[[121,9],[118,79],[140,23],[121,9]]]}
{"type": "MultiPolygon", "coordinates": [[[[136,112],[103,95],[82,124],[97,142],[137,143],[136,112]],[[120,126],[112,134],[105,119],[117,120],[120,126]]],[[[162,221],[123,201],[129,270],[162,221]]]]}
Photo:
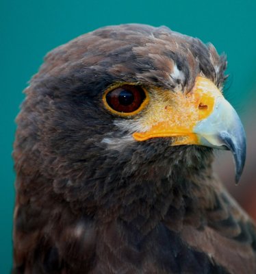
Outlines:
{"type": "Polygon", "coordinates": [[[221,92],[225,68],[212,45],[165,27],[99,29],[49,53],[18,118],[29,117],[22,140],[57,191],[104,195],[174,165],[196,171],[209,147],[233,152],[238,180],[245,137],[221,92]]]}

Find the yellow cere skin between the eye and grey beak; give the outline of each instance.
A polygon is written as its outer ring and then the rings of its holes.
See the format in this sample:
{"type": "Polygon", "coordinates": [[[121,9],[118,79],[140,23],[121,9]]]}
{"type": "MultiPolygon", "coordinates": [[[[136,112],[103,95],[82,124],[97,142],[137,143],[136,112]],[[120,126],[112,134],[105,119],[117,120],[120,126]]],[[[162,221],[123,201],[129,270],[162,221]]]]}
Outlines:
{"type": "Polygon", "coordinates": [[[177,137],[172,145],[198,145],[193,128],[212,114],[217,97],[222,97],[220,90],[201,76],[196,77],[194,88],[188,94],[156,90],[144,114],[142,127],[146,130],[135,132],[133,138],[143,141],[155,137],[177,137]]]}

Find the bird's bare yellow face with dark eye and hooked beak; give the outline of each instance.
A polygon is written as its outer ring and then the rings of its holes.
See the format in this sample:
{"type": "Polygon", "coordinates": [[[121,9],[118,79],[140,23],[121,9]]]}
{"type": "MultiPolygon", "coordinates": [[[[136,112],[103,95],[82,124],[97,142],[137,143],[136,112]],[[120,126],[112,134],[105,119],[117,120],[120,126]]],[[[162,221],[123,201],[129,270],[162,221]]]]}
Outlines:
{"type": "Polygon", "coordinates": [[[244,129],[238,114],[220,89],[200,74],[191,90],[175,88],[121,83],[107,89],[103,95],[104,106],[119,117],[114,124],[127,133],[113,140],[105,138],[103,142],[116,147],[120,143],[125,145],[123,140],[144,142],[169,138],[171,147],[203,145],[230,149],[237,164],[238,182],[245,159],[244,129]]]}

